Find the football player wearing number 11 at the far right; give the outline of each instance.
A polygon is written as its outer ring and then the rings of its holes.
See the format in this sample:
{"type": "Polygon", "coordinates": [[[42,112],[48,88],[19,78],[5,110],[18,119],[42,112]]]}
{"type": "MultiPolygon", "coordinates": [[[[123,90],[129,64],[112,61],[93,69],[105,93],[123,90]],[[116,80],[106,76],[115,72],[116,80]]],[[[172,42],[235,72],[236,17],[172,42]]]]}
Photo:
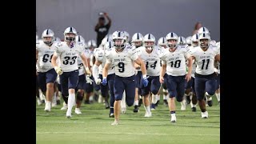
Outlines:
{"type": "Polygon", "coordinates": [[[202,111],[202,118],[208,118],[206,102],[211,101],[211,96],[216,90],[216,73],[214,72],[214,60],[220,62],[220,54],[217,47],[210,46],[210,34],[198,35],[199,46],[191,50],[192,58],[197,63],[194,78],[194,89],[198,98],[198,105],[202,111]]]}

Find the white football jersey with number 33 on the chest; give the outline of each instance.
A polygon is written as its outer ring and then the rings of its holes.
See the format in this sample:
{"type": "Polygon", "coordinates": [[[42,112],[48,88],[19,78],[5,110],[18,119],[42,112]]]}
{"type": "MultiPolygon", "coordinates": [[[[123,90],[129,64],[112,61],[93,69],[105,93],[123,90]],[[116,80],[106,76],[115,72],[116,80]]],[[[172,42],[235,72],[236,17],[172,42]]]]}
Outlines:
{"type": "Polygon", "coordinates": [[[72,48],[67,46],[66,42],[56,42],[54,46],[54,54],[60,57],[60,67],[63,72],[78,70],[78,56],[84,52],[82,42],[74,42],[72,48]]]}

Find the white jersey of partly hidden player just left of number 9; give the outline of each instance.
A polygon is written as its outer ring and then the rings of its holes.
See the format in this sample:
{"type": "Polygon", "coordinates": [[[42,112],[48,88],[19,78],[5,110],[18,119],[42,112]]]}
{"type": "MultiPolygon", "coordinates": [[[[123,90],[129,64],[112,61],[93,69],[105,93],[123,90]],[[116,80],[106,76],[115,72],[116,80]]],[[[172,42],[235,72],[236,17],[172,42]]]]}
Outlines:
{"type": "MultiPolygon", "coordinates": [[[[102,62],[102,64],[100,66],[98,66],[98,74],[102,74],[102,71],[103,71],[103,67],[105,66],[106,64],[106,52],[107,51],[110,51],[111,49],[109,50],[97,50],[95,52],[95,59],[98,61],[98,62],[102,62]]],[[[109,70],[108,70],[108,75],[110,74],[114,74],[114,64],[112,63],[112,65],[110,66],[109,70]]]]}

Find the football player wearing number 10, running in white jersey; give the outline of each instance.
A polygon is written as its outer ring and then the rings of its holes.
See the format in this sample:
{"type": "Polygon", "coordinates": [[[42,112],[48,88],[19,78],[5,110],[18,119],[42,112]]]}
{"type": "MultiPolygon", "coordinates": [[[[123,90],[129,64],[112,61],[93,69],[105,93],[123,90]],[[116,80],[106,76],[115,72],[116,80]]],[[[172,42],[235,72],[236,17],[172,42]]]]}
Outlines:
{"type": "Polygon", "coordinates": [[[175,115],[175,98],[182,102],[185,81],[191,78],[192,57],[188,50],[178,46],[178,35],[171,32],[166,35],[167,47],[162,51],[162,69],[159,80],[164,82],[164,74],[167,73],[167,89],[169,92],[169,110],[171,114],[170,122],[176,122],[175,115]],[[188,61],[188,73],[186,74],[186,60],[188,61]]]}

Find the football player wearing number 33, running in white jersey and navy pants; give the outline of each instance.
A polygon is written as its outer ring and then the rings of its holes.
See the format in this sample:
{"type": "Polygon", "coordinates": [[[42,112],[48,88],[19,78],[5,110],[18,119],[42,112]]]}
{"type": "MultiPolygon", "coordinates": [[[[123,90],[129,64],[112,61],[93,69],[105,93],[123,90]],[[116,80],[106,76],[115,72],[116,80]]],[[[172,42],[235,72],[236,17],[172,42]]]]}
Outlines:
{"type": "MultiPolygon", "coordinates": [[[[64,42],[57,42],[54,56],[51,58],[51,64],[54,66],[56,73],[59,75],[62,86],[62,95],[68,97],[66,118],[71,118],[72,108],[75,102],[75,88],[78,84],[78,56],[82,59],[83,66],[86,67],[86,74],[90,74],[89,65],[84,46],[75,42],[77,30],[74,27],[67,27],[64,31],[64,42]],[[57,58],[60,57],[60,66],[57,65],[57,58]]],[[[64,98],[63,97],[63,98],[64,98]]],[[[65,100],[65,99],[64,99],[65,100]]]]}

